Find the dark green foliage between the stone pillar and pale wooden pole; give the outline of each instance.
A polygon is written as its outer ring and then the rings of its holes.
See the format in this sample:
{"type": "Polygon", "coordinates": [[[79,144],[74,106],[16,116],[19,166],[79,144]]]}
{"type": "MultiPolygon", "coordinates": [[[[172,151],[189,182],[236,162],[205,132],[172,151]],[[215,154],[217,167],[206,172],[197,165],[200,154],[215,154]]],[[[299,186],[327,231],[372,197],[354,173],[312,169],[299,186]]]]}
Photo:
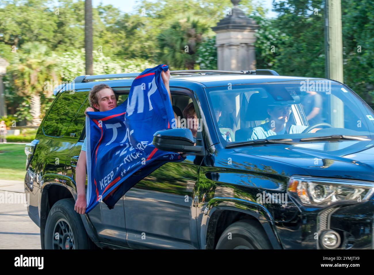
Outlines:
{"type": "MultiPolygon", "coordinates": [[[[270,63],[279,74],[325,77],[322,8],[322,0],[275,2],[275,10],[279,15],[270,20],[267,28],[271,28],[275,35],[275,58],[270,63]],[[318,9],[318,14],[315,9],[318,9]]],[[[266,31],[264,35],[270,39],[273,37],[266,31]]]]}

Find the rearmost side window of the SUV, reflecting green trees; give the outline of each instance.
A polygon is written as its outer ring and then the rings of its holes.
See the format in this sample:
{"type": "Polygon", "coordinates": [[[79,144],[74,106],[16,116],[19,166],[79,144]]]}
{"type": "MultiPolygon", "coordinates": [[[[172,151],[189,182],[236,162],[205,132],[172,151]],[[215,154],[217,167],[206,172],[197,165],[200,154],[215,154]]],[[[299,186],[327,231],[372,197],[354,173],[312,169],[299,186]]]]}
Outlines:
{"type": "Polygon", "coordinates": [[[86,92],[62,92],[43,123],[44,133],[53,137],[62,137],[86,97],[86,92]]]}

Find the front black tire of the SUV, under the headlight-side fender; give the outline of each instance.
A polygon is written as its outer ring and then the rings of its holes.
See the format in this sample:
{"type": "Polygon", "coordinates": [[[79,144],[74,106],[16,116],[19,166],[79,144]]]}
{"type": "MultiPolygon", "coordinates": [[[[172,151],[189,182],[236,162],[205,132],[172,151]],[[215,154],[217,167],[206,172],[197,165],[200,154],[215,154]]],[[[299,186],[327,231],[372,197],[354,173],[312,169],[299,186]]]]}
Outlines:
{"type": "Polygon", "coordinates": [[[272,249],[272,245],[261,225],[251,220],[240,220],[225,229],[215,249],[272,249]],[[231,239],[228,233],[232,233],[231,239]]]}

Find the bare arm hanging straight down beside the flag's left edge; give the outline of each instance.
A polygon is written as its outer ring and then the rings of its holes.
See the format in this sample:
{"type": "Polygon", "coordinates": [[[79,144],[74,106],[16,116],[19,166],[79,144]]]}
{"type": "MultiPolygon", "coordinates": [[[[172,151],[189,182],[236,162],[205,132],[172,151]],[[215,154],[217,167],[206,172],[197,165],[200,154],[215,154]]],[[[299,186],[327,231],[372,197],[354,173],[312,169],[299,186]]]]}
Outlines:
{"type": "Polygon", "coordinates": [[[77,183],[78,198],[74,205],[74,211],[79,214],[86,212],[86,152],[81,150],[76,167],[75,181],[77,183]]]}

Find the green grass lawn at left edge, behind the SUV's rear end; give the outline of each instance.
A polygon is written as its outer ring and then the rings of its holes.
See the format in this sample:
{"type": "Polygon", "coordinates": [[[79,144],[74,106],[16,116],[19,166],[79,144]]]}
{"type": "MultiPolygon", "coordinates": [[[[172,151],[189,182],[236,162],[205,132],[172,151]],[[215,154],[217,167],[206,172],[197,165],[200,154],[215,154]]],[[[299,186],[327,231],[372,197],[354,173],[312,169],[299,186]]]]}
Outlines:
{"type": "Polygon", "coordinates": [[[25,144],[0,143],[1,180],[24,180],[25,165],[25,144]]]}

